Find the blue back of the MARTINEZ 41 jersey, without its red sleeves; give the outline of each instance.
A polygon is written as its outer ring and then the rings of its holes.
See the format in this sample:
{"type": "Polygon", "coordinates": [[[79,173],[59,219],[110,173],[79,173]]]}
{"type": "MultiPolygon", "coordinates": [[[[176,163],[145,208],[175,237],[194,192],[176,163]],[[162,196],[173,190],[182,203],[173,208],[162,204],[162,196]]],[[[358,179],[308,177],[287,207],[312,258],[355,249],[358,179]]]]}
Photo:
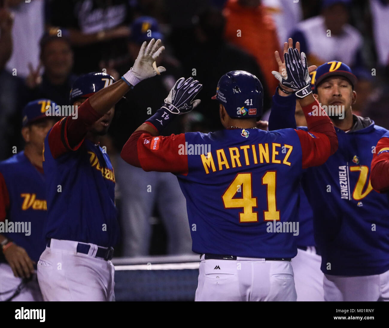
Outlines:
{"type": "Polygon", "coordinates": [[[247,138],[242,130],[185,134],[187,144],[210,148],[208,155],[188,155],[188,174],[177,176],[193,251],[292,258],[297,253],[293,224],[302,171],[300,140],[293,129],[246,131],[247,138]],[[277,223],[286,223],[290,231],[277,233],[277,223]]]}

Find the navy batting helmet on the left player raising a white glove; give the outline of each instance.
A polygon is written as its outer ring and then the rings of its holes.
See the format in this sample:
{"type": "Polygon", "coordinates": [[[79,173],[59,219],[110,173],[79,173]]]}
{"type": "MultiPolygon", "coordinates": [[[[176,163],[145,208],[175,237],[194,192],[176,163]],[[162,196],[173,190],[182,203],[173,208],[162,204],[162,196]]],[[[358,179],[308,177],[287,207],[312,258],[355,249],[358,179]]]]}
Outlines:
{"type": "Polygon", "coordinates": [[[70,90],[70,104],[78,98],[88,98],[98,90],[108,87],[115,82],[115,79],[106,73],[88,73],[75,80],[70,90]]]}

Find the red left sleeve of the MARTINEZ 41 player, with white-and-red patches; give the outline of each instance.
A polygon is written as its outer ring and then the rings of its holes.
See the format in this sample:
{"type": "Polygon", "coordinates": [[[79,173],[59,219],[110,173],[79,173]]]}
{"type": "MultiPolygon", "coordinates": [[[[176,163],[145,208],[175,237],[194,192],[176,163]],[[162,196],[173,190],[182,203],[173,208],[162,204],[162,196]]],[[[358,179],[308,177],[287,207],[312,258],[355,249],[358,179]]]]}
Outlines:
{"type": "Polygon", "coordinates": [[[188,158],[179,154],[185,144],[185,134],[154,137],[147,131],[136,131],[124,145],[121,157],[127,163],[145,171],[188,173],[188,158]]]}

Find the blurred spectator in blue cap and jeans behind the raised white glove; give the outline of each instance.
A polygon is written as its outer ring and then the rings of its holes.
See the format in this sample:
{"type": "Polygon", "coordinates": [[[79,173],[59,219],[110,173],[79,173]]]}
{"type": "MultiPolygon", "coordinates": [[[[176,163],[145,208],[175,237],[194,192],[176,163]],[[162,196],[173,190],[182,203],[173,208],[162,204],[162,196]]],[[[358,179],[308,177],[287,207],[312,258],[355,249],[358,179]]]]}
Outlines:
{"type": "MultiPolygon", "coordinates": [[[[157,21],[147,16],[136,19],[131,25],[129,56],[121,66],[115,68],[121,74],[128,71],[138,56],[142,43],[151,38],[163,40],[157,21]]],[[[112,122],[110,132],[119,152],[132,132],[161,107],[163,99],[181,76],[179,62],[166,54],[157,65],[164,66],[166,73],[144,80],[137,84],[136,90],[128,92],[127,108],[122,106],[112,122]]],[[[177,124],[179,122],[176,122],[176,128],[177,124]]],[[[128,165],[119,154],[116,156],[115,176],[121,195],[123,255],[149,255],[152,231],[150,219],[154,207],[157,207],[165,226],[168,254],[191,253],[186,201],[176,177],[166,172],[145,172],[128,165]]]]}

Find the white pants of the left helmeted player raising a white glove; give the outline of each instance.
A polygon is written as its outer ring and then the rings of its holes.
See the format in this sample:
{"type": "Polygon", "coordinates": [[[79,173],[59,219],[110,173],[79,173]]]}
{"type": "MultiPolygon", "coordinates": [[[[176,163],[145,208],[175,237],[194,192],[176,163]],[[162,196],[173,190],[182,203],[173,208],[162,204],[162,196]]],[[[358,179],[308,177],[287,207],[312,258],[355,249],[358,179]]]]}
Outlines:
{"type": "Polygon", "coordinates": [[[38,281],[45,301],[113,301],[114,265],[88,254],[77,253],[77,241],[51,239],[40,255],[38,281]]]}

